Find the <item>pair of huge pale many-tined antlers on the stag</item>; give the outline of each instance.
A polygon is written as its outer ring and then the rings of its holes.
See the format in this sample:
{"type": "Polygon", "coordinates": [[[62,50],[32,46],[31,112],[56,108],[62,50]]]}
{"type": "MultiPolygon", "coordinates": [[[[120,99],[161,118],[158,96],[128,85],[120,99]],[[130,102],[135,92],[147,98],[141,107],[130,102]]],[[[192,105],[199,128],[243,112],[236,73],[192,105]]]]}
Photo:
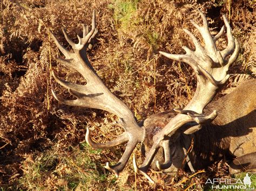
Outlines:
{"type": "MultiPolygon", "coordinates": [[[[199,11],[199,13],[203,18],[203,26],[199,26],[193,21],[192,24],[199,30],[207,46],[202,46],[190,31],[184,30],[184,32],[192,39],[196,47],[195,51],[192,51],[187,47],[183,47],[186,54],[182,55],[159,52],[167,58],[188,63],[196,73],[197,89],[194,97],[186,107],[183,110],[175,110],[177,115],[171,119],[163,130],[157,133],[155,136],[156,138],[154,139],[154,144],[141,167],[137,166],[136,157],[133,155],[135,171],[146,176],[150,182],[153,182],[153,180],[146,174],[146,171],[150,167],[154,155],[156,155],[159,147],[164,148],[165,162],[164,164],[157,162],[157,166],[159,169],[164,169],[166,168],[166,164],[169,164],[171,161],[169,142],[175,140],[177,136],[179,136],[179,133],[190,134],[199,130],[200,124],[211,122],[217,116],[216,111],[212,111],[210,115],[204,115],[203,110],[215,96],[219,88],[227,81],[229,77],[229,75],[227,75],[228,67],[237,59],[239,53],[238,41],[232,36],[231,27],[227,22],[227,18],[223,16],[227,30],[228,45],[223,51],[219,51],[215,46],[215,42],[221,35],[223,35],[225,27],[223,26],[220,32],[216,36],[212,37],[208,29],[206,17],[203,12],[199,11]]],[[[145,129],[138,125],[133,112],[105,86],[87,58],[86,49],[89,47],[91,40],[97,33],[95,11],[93,11],[92,16],[92,29],[90,32],[88,29],[89,27],[83,25],[83,37],[81,38],[78,36],[78,44],[75,44],[69,38],[65,29],[63,29],[64,36],[71,45],[73,53],[60,45],[57,38],[52,32],[50,32],[57,47],[65,56],[65,59],[56,58],[56,60],[65,66],[76,69],[83,75],[87,82],[85,85],[74,84],[59,79],[59,77],[52,72],[55,80],[60,85],[67,88],[69,93],[76,97],[76,100],[65,100],[62,97],[59,97],[55,91],[52,91],[52,94],[60,103],[86,108],[102,109],[112,112],[119,117],[119,121],[117,123],[123,126],[125,132],[123,135],[109,143],[98,144],[93,142],[89,129],[86,131],[86,142],[93,148],[109,148],[127,143],[125,152],[118,163],[110,166],[107,162],[105,166],[105,168],[109,169],[118,177],[118,173],[124,169],[136,145],[139,142],[144,141],[145,129]]]]}

